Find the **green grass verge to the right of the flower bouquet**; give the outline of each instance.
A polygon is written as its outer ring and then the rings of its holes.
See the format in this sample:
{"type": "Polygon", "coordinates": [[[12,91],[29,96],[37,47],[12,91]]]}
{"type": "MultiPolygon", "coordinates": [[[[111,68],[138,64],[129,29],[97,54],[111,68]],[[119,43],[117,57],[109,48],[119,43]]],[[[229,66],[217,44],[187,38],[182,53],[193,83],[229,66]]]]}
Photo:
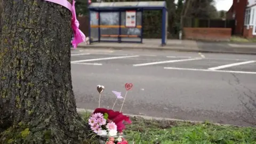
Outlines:
{"type": "MultiPolygon", "coordinates": [[[[88,116],[88,115],[87,115],[88,116]]],[[[87,117],[85,116],[85,117],[87,117]]],[[[139,143],[255,143],[256,128],[131,117],[124,134],[139,143]]]]}

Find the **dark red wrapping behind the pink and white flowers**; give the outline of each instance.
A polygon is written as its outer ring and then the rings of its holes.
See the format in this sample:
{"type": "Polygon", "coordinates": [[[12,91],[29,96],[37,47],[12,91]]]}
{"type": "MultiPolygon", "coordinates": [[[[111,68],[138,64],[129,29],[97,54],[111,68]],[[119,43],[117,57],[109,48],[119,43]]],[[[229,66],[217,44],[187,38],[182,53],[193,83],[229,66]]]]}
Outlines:
{"type": "Polygon", "coordinates": [[[129,116],[125,116],[125,115],[123,115],[123,113],[120,113],[119,111],[114,111],[112,109],[97,108],[94,110],[93,114],[95,114],[95,113],[101,113],[101,114],[107,113],[108,119],[110,119],[111,121],[113,121],[116,124],[118,132],[123,132],[123,130],[125,129],[125,125],[123,122],[127,122],[129,124],[132,123],[130,121],[129,116]]]}

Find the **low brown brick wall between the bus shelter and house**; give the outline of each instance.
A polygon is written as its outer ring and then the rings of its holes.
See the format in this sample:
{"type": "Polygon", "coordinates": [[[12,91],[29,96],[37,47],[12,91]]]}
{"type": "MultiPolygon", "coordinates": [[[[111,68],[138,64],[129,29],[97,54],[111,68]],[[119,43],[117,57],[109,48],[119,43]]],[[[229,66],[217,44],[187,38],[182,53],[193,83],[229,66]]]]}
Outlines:
{"type": "Polygon", "coordinates": [[[231,28],[183,28],[185,39],[229,41],[231,28]]]}

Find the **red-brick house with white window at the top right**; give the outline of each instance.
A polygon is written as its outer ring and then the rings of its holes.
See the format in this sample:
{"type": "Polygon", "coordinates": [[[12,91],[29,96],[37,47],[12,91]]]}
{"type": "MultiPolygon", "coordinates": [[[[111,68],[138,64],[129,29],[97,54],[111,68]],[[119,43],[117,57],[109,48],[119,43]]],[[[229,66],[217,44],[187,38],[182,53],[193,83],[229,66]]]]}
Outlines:
{"type": "Polygon", "coordinates": [[[256,37],[256,0],[233,0],[227,19],[235,20],[235,35],[256,37]]]}

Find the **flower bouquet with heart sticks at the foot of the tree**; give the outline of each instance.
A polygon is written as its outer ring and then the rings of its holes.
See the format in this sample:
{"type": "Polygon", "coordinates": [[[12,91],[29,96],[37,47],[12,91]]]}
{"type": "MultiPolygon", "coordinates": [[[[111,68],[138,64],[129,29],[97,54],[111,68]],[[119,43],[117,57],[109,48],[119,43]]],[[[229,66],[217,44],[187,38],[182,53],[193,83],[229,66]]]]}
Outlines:
{"type": "MultiPolygon", "coordinates": [[[[121,92],[112,91],[116,95],[114,106],[117,99],[125,100],[127,91],[132,87],[132,84],[128,85],[130,85],[129,89],[127,89],[127,84],[125,84],[126,94],[124,98],[121,96],[121,92]]],[[[99,136],[99,142],[102,144],[127,144],[128,141],[123,136],[123,130],[125,130],[125,123],[131,124],[131,121],[129,116],[121,113],[124,100],[120,111],[114,111],[114,106],[112,109],[100,108],[101,93],[104,91],[104,89],[104,86],[97,86],[97,90],[100,94],[99,108],[95,109],[89,118],[91,130],[99,136]]]]}

